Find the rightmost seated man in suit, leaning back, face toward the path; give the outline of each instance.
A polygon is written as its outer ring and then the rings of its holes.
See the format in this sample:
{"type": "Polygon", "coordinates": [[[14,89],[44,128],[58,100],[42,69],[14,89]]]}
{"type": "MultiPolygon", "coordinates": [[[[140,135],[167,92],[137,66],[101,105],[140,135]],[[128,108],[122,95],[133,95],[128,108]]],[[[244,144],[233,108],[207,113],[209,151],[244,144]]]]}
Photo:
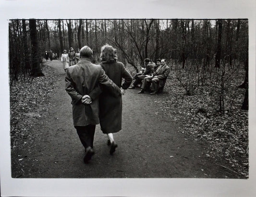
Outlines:
{"type": "Polygon", "coordinates": [[[162,59],[161,65],[158,66],[157,70],[153,73],[153,75],[145,77],[143,84],[141,86],[142,89],[138,93],[144,93],[145,89],[150,85],[150,83],[152,83],[152,93],[150,93],[150,95],[157,94],[158,89],[164,86],[169,73],[170,68],[166,64],[166,59],[162,59]]]}

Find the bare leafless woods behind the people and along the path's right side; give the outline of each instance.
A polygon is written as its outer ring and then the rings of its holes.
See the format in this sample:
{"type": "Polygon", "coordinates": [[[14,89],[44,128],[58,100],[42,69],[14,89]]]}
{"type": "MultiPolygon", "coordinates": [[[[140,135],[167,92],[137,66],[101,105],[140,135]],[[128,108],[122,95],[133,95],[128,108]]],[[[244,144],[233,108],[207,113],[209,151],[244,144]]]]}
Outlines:
{"type": "MultiPolygon", "coordinates": [[[[248,170],[248,20],[10,20],[11,106],[17,84],[33,84],[35,77],[44,76],[45,51],[51,49],[61,56],[64,49],[76,51],[88,45],[93,49],[92,62],[99,64],[104,44],[117,49],[119,61],[132,75],[144,67],[145,58],[165,58],[171,68],[171,82],[165,89],[178,96],[162,101],[164,113],[169,114],[166,109],[172,104],[186,105],[187,126],[200,127],[191,133],[210,141],[218,139],[220,147],[229,143],[219,151],[223,154],[232,144],[239,147],[238,152],[247,158],[243,169],[248,170]],[[185,98],[186,102],[179,100],[185,98]]],[[[17,124],[14,119],[11,115],[12,131],[17,124]]]]}

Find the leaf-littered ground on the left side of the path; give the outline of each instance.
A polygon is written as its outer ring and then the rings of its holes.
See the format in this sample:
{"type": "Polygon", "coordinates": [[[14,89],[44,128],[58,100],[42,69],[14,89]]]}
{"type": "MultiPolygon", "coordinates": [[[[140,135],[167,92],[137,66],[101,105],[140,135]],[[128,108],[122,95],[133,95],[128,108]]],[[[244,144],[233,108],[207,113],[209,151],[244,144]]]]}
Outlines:
{"type": "Polygon", "coordinates": [[[47,102],[55,87],[57,74],[54,69],[45,66],[42,70],[45,73],[44,77],[19,81],[10,88],[12,149],[30,136],[29,131],[33,127],[32,120],[41,118],[46,110],[40,111],[39,106],[47,102]]]}

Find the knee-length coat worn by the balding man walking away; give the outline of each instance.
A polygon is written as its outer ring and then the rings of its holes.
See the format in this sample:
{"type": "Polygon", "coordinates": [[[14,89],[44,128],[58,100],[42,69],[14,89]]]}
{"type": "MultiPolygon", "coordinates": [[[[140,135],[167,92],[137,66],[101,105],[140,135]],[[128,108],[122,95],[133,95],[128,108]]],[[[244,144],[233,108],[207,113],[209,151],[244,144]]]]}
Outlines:
{"type": "Polygon", "coordinates": [[[72,98],[75,126],[99,123],[98,95],[97,92],[92,92],[99,84],[107,89],[113,98],[120,95],[120,88],[109,79],[101,66],[94,65],[87,59],[81,59],[78,64],[67,68],[65,89],[72,98]],[[92,98],[90,105],[81,102],[84,95],[92,98]]]}

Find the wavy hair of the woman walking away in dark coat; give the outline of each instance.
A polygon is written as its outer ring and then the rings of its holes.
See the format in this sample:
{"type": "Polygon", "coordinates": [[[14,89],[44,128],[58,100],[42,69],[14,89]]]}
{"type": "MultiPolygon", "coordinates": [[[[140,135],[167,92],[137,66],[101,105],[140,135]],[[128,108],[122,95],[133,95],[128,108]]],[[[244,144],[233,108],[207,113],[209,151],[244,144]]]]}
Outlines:
{"type": "Polygon", "coordinates": [[[101,47],[100,50],[100,61],[101,63],[111,63],[117,61],[116,49],[114,49],[109,44],[106,44],[101,47]]]}

